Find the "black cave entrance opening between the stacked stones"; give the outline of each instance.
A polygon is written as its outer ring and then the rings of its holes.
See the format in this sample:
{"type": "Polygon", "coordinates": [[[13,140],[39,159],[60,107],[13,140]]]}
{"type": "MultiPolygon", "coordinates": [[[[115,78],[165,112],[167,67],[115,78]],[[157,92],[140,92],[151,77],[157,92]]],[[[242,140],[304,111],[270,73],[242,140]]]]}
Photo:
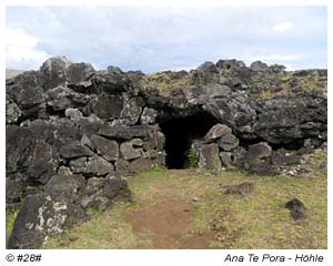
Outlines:
{"type": "Polygon", "coordinates": [[[204,111],[161,122],[160,127],[165,135],[167,167],[184,168],[192,141],[203,137],[216,123],[218,120],[204,111]]]}

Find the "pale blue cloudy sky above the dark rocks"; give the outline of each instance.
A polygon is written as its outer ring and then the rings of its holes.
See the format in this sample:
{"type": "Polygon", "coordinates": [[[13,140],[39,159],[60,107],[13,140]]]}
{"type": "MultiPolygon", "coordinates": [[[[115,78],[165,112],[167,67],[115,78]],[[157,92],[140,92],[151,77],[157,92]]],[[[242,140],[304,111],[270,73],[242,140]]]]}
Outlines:
{"type": "Polygon", "coordinates": [[[8,7],[7,69],[50,57],[145,73],[238,59],[327,68],[326,7],[8,7]]]}

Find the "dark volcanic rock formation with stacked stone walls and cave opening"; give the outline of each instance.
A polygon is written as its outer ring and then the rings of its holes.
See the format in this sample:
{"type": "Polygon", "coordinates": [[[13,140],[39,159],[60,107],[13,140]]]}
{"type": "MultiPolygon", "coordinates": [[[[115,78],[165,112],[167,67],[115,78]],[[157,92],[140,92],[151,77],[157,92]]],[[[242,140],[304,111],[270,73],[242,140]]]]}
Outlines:
{"type": "Polygon", "coordinates": [[[39,248],[132,201],[125,175],[154,166],[304,171],[326,149],[326,70],[220,60],[190,72],[123,72],[65,58],[6,81],[9,248],[39,248]]]}

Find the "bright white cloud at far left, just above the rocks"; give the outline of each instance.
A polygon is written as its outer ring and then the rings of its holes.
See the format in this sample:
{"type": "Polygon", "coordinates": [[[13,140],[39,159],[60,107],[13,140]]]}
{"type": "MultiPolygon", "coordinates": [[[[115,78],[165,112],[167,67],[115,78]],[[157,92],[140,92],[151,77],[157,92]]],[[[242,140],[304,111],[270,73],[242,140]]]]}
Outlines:
{"type": "Polygon", "coordinates": [[[36,47],[38,38],[21,29],[6,29],[6,62],[9,69],[37,69],[50,55],[36,47]]]}

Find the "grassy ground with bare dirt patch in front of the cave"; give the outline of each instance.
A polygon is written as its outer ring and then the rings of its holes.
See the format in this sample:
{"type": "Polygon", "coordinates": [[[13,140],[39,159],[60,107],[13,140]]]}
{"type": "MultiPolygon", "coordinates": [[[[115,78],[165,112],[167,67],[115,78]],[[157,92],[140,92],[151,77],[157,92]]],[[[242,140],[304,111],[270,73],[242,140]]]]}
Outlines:
{"type": "Polygon", "coordinates": [[[325,157],[315,153],[303,177],[155,168],[129,177],[133,203],[118,203],[44,248],[326,248],[325,157]],[[221,186],[252,182],[251,196],[221,186]],[[300,198],[295,222],[284,204],[300,198]]]}

